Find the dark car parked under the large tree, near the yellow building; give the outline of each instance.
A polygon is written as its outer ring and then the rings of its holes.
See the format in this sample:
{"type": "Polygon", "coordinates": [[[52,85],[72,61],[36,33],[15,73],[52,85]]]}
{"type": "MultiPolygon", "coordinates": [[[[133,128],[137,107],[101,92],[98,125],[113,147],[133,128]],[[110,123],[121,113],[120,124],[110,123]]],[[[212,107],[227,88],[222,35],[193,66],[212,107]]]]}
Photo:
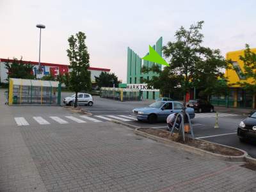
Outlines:
{"type": "Polygon", "coordinates": [[[214,112],[214,106],[207,100],[195,99],[189,100],[187,103],[188,108],[193,108],[198,113],[202,112],[214,112]]]}

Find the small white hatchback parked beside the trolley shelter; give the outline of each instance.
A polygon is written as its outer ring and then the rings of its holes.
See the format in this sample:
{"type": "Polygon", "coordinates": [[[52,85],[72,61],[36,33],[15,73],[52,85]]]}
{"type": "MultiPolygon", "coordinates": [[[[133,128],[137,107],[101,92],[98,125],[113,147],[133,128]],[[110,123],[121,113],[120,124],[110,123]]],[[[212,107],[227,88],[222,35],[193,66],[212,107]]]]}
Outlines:
{"type": "MultiPolygon", "coordinates": [[[[70,97],[66,97],[63,100],[63,103],[72,106],[75,103],[76,100],[76,94],[71,95],[70,97]]],[[[92,95],[88,93],[78,93],[77,94],[77,105],[87,105],[92,106],[93,105],[93,98],[92,95]]]]}

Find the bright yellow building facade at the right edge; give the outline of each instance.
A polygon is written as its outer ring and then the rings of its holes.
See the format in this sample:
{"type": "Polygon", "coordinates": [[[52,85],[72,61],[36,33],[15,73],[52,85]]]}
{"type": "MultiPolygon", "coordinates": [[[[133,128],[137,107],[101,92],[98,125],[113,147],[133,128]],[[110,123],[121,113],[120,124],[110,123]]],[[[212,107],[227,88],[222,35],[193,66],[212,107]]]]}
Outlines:
{"type": "MultiPolygon", "coordinates": [[[[256,53],[256,49],[251,49],[252,52],[256,53]]],[[[244,55],[244,50],[227,52],[226,59],[232,61],[232,66],[227,68],[225,71],[225,77],[228,79],[230,86],[230,92],[228,94],[227,102],[228,106],[234,108],[256,108],[255,97],[252,93],[246,92],[243,88],[236,84],[237,82],[252,83],[252,79],[246,79],[241,76],[239,72],[244,72],[244,63],[239,59],[240,56],[244,55]],[[237,70],[234,70],[236,68],[237,70]]]]}

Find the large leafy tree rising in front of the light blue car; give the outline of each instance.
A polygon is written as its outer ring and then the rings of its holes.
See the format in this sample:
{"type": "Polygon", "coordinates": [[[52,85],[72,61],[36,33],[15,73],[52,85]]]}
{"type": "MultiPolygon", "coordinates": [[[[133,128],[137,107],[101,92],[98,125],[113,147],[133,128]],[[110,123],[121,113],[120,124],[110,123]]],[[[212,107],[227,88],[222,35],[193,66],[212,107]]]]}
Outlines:
{"type": "MultiPolygon", "coordinates": [[[[163,54],[170,63],[168,69],[172,70],[174,76],[179,79],[184,103],[186,102],[186,93],[196,84],[197,86],[200,85],[197,82],[204,82],[204,86],[201,88],[210,86],[212,79],[218,82],[219,70],[226,66],[219,50],[202,46],[204,35],[201,30],[203,24],[204,21],[200,21],[191,25],[189,29],[185,29],[183,26],[180,27],[175,33],[176,40],[168,42],[163,47],[163,54]],[[204,79],[205,74],[208,81],[204,79]]],[[[209,94],[209,89],[205,93],[209,94]]]]}

